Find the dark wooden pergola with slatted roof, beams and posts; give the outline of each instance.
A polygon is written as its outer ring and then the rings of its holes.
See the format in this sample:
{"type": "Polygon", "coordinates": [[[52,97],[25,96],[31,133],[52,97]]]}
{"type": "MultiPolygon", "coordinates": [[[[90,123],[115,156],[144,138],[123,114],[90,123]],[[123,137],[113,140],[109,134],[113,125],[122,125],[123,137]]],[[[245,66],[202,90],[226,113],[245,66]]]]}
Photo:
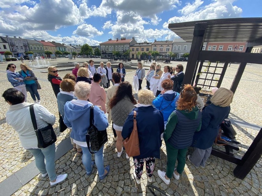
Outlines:
{"type": "MultiPolygon", "coordinates": [[[[204,61],[224,62],[218,81],[220,87],[230,62],[238,62],[239,67],[230,90],[236,92],[247,63],[262,64],[262,54],[250,53],[253,46],[262,45],[262,18],[226,18],[169,24],[169,29],[186,42],[192,42],[183,84],[193,85],[197,68],[201,70],[204,61]],[[247,42],[246,51],[205,51],[204,42],[247,42]]],[[[212,151],[213,152],[213,151],[212,151]]],[[[262,155],[262,128],[242,159],[213,152],[215,156],[236,163],[234,175],[244,179],[262,155]]]]}

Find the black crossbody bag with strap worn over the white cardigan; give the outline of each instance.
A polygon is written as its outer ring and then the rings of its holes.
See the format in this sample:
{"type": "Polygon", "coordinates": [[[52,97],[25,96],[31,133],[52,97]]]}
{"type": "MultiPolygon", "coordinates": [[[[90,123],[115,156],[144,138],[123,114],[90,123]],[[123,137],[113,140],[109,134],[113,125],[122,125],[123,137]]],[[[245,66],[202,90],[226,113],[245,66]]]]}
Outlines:
{"type": "Polygon", "coordinates": [[[34,126],[34,131],[37,137],[38,148],[46,148],[51,144],[56,142],[56,134],[54,133],[53,126],[49,124],[48,126],[37,129],[35,114],[34,114],[34,104],[29,107],[31,120],[34,126]]]}

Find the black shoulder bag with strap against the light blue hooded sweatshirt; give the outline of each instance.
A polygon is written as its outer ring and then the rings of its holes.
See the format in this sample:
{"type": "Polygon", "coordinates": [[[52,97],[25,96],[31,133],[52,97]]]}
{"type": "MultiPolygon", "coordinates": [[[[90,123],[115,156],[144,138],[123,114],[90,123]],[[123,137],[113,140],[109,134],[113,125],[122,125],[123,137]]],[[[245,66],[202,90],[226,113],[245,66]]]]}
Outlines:
{"type": "Polygon", "coordinates": [[[96,153],[108,141],[106,129],[104,131],[98,131],[93,121],[94,105],[90,107],[90,126],[85,134],[86,144],[91,154],[96,153]],[[90,147],[92,151],[96,152],[91,152],[90,147]]]}

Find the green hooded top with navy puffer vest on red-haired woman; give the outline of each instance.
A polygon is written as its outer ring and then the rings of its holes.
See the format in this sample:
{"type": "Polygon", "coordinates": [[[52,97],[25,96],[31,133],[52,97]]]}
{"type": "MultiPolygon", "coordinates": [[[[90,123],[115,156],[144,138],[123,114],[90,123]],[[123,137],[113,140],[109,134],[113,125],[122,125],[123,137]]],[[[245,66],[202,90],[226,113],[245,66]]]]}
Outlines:
{"type": "Polygon", "coordinates": [[[166,144],[174,148],[188,148],[193,136],[201,128],[201,112],[197,107],[192,111],[176,109],[171,113],[164,132],[166,144]]]}

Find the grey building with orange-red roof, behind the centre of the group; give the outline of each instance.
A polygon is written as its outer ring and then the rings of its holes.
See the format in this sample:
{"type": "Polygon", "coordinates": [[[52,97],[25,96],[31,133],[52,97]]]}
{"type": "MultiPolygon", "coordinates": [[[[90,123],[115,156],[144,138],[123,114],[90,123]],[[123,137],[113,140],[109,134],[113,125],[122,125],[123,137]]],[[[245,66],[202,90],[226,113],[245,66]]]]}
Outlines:
{"type": "Polygon", "coordinates": [[[132,37],[132,39],[125,39],[125,37],[121,37],[121,39],[117,38],[116,40],[109,39],[108,41],[99,44],[101,48],[101,58],[112,56],[113,51],[118,51],[120,55],[123,55],[123,53],[128,51],[130,46],[134,44],[136,44],[134,37],[132,37]]]}

